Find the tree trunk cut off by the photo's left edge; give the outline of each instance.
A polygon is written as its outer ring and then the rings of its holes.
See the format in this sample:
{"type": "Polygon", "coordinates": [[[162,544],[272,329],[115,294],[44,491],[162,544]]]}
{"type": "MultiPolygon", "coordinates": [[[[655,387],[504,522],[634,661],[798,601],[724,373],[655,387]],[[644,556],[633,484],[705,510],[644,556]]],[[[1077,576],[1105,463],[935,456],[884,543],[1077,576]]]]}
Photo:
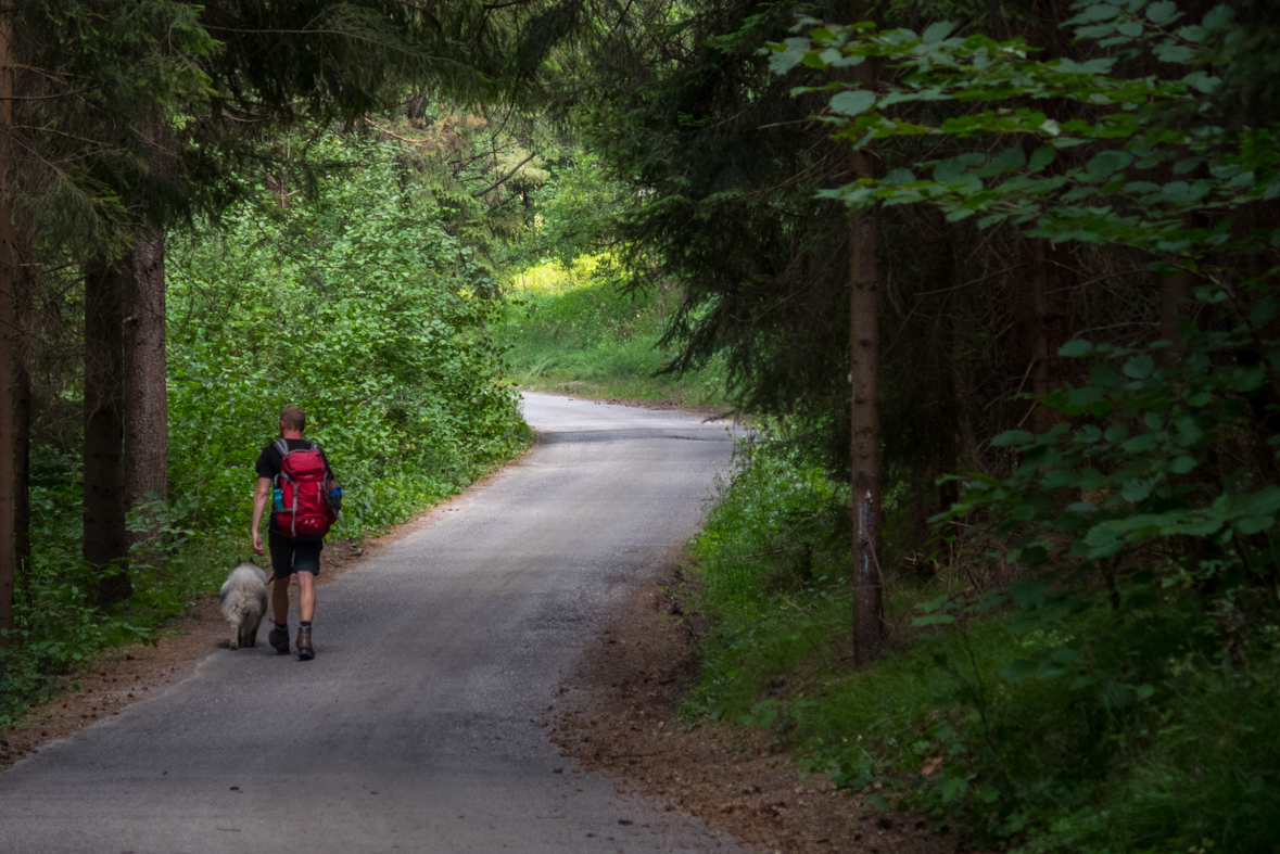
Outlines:
{"type": "Polygon", "coordinates": [[[15,247],[13,234],[14,151],[13,127],[13,6],[0,10],[0,644],[8,646],[13,629],[14,545],[13,477],[13,344],[18,317],[14,311],[15,247]]]}

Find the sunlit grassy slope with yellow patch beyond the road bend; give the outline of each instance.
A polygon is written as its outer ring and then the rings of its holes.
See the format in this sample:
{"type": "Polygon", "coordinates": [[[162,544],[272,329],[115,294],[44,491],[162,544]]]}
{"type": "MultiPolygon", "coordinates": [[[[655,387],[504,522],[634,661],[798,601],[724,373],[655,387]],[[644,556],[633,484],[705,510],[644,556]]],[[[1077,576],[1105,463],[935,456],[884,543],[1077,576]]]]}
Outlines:
{"type": "Polygon", "coordinates": [[[507,284],[512,378],[530,389],[590,398],[723,400],[716,366],[660,375],[672,350],[659,345],[678,303],[675,290],[626,291],[608,253],[547,260],[507,284]]]}

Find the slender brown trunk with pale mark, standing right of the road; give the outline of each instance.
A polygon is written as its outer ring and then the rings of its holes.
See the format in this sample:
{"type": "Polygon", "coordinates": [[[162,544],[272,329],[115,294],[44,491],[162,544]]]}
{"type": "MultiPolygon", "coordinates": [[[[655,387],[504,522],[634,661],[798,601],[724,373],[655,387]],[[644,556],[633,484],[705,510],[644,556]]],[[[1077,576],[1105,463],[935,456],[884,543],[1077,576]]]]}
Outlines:
{"type": "MultiPolygon", "coordinates": [[[[851,4],[852,23],[870,19],[864,0],[851,4]]],[[[876,60],[854,66],[854,81],[876,91],[876,60]]],[[[850,155],[854,180],[874,178],[868,148],[850,155]]],[[[884,591],[881,575],[879,486],[879,267],[876,251],[879,221],[876,208],[855,211],[849,220],[849,378],[852,385],[850,463],[852,465],[854,543],[850,588],[854,593],[854,660],[872,661],[884,642],[884,591]]]]}

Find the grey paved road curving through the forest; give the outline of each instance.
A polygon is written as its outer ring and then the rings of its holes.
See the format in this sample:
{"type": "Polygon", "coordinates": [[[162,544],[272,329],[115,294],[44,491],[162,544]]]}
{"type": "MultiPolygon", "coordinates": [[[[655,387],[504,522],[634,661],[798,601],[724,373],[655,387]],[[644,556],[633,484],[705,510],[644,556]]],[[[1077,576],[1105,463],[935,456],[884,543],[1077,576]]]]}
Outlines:
{"type": "Polygon", "coordinates": [[[737,850],[581,775],[534,722],[593,621],[694,533],[732,442],[543,395],[525,417],[525,462],[320,588],[315,661],[264,626],[0,775],[0,853],[737,850]]]}

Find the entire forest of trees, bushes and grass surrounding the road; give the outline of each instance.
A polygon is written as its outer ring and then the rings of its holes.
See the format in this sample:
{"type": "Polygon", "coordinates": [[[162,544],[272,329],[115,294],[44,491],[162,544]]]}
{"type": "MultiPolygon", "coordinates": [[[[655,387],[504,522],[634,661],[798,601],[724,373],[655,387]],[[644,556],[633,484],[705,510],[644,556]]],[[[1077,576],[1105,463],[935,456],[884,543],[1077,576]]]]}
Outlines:
{"type": "Polygon", "coordinates": [[[975,850],[1280,850],[1267,0],[0,10],[0,718],[517,387],[750,424],[690,726],[975,850]]]}

